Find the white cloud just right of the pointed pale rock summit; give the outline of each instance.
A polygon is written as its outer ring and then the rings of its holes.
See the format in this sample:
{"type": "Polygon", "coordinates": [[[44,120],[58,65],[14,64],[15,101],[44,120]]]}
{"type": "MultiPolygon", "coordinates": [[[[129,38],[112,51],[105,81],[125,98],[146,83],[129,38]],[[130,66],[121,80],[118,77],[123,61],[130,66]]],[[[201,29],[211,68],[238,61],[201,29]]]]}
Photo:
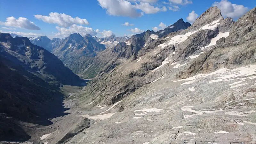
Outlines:
{"type": "Polygon", "coordinates": [[[248,11],[247,7],[244,7],[243,5],[232,4],[227,0],[214,2],[212,6],[217,6],[224,17],[231,17],[233,19],[243,16],[244,13],[248,11]]]}

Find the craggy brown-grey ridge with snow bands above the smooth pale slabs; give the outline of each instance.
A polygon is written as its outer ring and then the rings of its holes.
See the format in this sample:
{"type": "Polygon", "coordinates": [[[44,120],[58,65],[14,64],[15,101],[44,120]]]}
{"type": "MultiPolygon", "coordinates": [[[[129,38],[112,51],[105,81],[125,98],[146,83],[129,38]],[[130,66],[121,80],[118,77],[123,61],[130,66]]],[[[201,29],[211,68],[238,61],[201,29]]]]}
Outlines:
{"type": "MultiPolygon", "coordinates": [[[[247,15],[248,13],[245,17],[247,15]]],[[[240,23],[239,20],[237,24],[240,23]]],[[[250,25],[249,19],[247,21],[250,25]]],[[[143,34],[134,35],[128,40],[130,42],[129,47],[132,48],[136,44],[136,46],[141,46],[134,56],[129,54],[128,57],[123,57],[126,61],[119,62],[118,66],[116,61],[112,61],[112,67],[100,71],[90,86],[84,90],[95,95],[93,98],[95,105],[111,105],[135,92],[141,86],[163,77],[166,73],[173,73],[175,78],[179,80],[224,67],[234,68],[237,65],[252,64],[252,61],[255,60],[253,56],[255,48],[253,46],[248,48],[240,45],[244,48],[233,53],[238,47],[231,48],[230,46],[237,45],[237,43],[233,41],[228,45],[226,44],[230,36],[228,33],[232,34],[232,29],[235,29],[237,24],[230,18],[224,19],[217,7],[211,7],[188,29],[172,32],[157,40],[151,40],[148,44],[147,37],[154,32],[148,30],[143,34]],[[186,37],[183,38],[183,36],[186,37]],[[145,43],[146,46],[144,46],[145,43]],[[239,61],[237,61],[238,59],[239,61]],[[230,63],[229,61],[233,62],[230,63]],[[175,71],[182,63],[187,64],[188,67],[178,72],[175,71]]],[[[254,26],[253,23],[251,24],[254,26]]],[[[243,30],[237,31],[237,33],[243,33],[243,30]]],[[[250,42],[252,41],[250,39],[250,42]]],[[[124,52],[129,52],[128,49],[126,47],[124,52]]],[[[120,51],[114,49],[113,52],[120,51]]]]}

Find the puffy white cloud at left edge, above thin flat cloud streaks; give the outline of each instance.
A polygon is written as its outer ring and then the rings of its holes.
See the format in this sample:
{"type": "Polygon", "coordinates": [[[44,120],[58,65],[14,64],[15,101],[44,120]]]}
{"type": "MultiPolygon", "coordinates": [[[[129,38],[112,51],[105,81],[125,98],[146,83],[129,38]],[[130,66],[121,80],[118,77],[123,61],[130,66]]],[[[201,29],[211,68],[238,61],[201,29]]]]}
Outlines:
{"type": "Polygon", "coordinates": [[[8,17],[6,18],[5,22],[0,21],[0,25],[4,25],[7,27],[32,29],[32,30],[41,29],[34,22],[29,21],[27,18],[23,18],[23,17],[19,17],[19,19],[16,19],[14,17],[8,17]]]}

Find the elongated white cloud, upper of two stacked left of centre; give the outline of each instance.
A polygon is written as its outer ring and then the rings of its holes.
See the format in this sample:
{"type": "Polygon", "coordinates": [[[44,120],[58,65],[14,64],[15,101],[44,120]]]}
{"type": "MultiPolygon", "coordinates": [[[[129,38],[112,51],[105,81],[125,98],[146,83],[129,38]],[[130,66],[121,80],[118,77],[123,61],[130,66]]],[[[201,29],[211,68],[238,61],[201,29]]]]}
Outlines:
{"type": "Polygon", "coordinates": [[[89,25],[89,22],[86,19],[81,19],[79,17],[73,18],[70,15],[58,12],[51,12],[49,13],[49,16],[43,16],[38,14],[35,15],[35,18],[38,20],[43,20],[46,23],[58,24],[62,27],[69,27],[73,24],[89,25]]]}

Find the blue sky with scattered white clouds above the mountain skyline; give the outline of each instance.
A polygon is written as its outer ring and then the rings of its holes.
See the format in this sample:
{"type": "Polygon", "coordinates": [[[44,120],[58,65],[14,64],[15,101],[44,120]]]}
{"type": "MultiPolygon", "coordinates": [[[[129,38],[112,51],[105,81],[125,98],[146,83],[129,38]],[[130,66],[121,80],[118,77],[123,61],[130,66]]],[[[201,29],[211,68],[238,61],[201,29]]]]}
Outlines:
{"type": "Polygon", "coordinates": [[[212,5],[218,6],[224,17],[230,16],[236,20],[245,12],[254,8],[256,1],[1,0],[0,31],[13,32],[27,37],[46,35],[49,38],[62,38],[74,32],[80,33],[82,36],[86,33],[99,37],[105,37],[111,34],[115,34],[116,36],[131,36],[147,29],[152,30],[154,27],[157,27],[154,30],[163,29],[180,18],[183,18],[185,22],[189,21],[192,23],[212,5]],[[51,12],[56,12],[54,14],[56,17],[49,17],[49,13],[51,12]],[[64,13],[65,16],[61,17],[60,13],[64,13]],[[36,18],[35,15],[41,16],[36,18]],[[188,16],[190,17],[188,18],[188,16]],[[6,20],[8,17],[14,18],[6,20]],[[23,19],[19,19],[20,17],[23,19]],[[62,19],[58,19],[58,17],[62,19]],[[76,17],[79,20],[74,20],[76,17]],[[122,25],[125,22],[133,25],[122,25]],[[158,25],[161,22],[164,25],[162,24],[159,27],[158,25]]]}

